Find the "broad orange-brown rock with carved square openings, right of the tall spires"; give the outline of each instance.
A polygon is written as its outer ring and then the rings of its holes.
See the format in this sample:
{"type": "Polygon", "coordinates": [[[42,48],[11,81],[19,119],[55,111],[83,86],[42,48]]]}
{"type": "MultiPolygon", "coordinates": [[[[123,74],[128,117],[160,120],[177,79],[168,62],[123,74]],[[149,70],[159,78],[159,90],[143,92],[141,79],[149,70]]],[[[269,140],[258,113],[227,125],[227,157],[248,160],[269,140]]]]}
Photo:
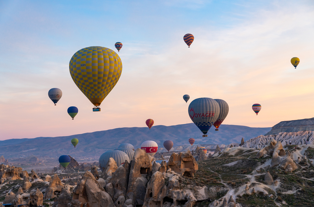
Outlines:
{"type": "Polygon", "coordinates": [[[194,173],[198,170],[198,163],[190,153],[190,150],[187,150],[185,153],[172,153],[167,168],[171,168],[179,175],[194,177],[194,173]]]}

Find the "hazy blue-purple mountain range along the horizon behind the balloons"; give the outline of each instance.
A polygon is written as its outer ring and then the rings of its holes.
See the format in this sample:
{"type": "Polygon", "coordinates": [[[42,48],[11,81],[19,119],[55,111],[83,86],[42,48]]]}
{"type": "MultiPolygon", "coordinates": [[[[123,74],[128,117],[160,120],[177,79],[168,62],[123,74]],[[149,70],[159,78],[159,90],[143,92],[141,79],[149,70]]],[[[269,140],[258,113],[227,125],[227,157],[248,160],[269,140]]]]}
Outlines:
{"type": "Polygon", "coordinates": [[[124,127],[106,131],[77,134],[65,137],[37,137],[33,139],[8,139],[0,141],[0,155],[5,158],[17,156],[49,156],[59,157],[68,154],[76,157],[100,156],[107,150],[117,148],[121,143],[131,143],[135,148],[146,140],[154,140],[159,147],[163,147],[165,140],[172,140],[174,146],[189,145],[188,139],[194,138],[194,144],[225,144],[240,143],[263,135],[271,127],[257,128],[237,125],[221,125],[219,131],[212,127],[208,137],[202,137],[198,127],[193,123],[175,126],[124,127]],[[76,148],[71,144],[72,138],[78,138],[76,148]]]}

